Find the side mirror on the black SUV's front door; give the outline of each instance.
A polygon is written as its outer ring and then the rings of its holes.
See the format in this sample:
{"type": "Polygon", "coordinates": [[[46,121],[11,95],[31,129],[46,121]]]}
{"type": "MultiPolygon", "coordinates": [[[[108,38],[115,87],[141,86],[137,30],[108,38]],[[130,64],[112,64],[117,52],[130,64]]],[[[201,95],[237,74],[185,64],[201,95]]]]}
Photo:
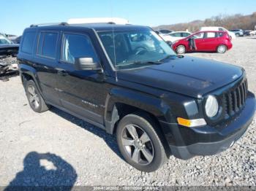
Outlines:
{"type": "Polygon", "coordinates": [[[95,63],[93,58],[75,58],[75,69],[102,71],[99,63],[95,63]]]}

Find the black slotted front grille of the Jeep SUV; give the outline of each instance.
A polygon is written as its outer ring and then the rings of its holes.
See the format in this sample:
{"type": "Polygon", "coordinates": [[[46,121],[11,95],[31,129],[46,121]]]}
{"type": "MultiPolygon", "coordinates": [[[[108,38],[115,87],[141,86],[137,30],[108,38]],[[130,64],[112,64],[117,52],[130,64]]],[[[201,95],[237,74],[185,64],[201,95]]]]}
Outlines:
{"type": "Polygon", "coordinates": [[[245,79],[235,88],[232,88],[223,95],[223,103],[225,108],[225,118],[232,117],[238,113],[245,105],[247,97],[248,85],[245,79]]]}

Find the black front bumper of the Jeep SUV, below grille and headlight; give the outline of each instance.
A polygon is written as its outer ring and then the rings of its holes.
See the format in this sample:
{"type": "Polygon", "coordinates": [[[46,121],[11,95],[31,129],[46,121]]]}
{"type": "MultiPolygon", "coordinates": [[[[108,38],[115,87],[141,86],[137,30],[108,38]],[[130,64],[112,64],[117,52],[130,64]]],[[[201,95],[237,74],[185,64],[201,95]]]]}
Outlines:
{"type": "Polygon", "coordinates": [[[215,155],[233,146],[246,132],[254,114],[255,95],[249,93],[244,109],[232,122],[225,124],[225,128],[218,130],[208,125],[201,128],[184,128],[164,122],[161,122],[161,125],[170,130],[165,133],[165,137],[172,154],[187,160],[195,155],[215,155]]]}

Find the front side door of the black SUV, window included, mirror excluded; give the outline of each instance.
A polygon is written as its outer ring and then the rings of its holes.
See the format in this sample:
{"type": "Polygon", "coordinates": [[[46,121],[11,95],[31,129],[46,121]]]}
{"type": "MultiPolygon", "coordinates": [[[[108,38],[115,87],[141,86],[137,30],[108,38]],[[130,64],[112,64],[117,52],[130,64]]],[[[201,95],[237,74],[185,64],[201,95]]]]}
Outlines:
{"type": "Polygon", "coordinates": [[[57,65],[57,89],[61,106],[97,124],[103,124],[108,94],[104,75],[94,70],[75,69],[75,58],[93,58],[99,63],[89,34],[64,32],[57,65]]]}

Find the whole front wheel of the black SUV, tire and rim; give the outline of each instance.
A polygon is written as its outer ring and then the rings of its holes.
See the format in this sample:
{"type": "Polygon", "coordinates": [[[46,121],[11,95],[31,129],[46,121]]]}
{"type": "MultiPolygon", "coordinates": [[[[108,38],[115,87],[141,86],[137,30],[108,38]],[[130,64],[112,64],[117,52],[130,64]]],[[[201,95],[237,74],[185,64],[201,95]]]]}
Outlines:
{"type": "Polygon", "coordinates": [[[167,160],[162,136],[156,130],[154,120],[142,113],[128,114],[118,123],[116,139],[121,155],[139,171],[156,171],[167,160]]]}

